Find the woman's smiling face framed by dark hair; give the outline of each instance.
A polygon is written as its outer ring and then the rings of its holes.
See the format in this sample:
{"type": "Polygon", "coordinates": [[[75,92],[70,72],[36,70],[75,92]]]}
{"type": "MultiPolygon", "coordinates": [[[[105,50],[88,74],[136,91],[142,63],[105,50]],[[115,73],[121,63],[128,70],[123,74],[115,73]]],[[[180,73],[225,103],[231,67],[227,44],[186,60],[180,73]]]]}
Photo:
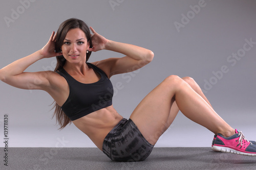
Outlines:
{"type": "Polygon", "coordinates": [[[68,31],[61,51],[64,58],[71,63],[81,63],[86,61],[86,52],[89,49],[86,34],[79,28],[68,31]]]}

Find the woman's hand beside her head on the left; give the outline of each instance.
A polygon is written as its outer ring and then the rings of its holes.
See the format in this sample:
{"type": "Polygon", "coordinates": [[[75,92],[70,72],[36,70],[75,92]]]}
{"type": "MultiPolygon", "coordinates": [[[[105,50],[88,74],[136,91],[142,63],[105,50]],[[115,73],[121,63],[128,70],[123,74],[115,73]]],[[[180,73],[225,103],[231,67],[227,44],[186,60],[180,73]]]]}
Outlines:
{"type": "Polygon", "coordinates": [[[62,53],[55,53],[55,41],[56,41],[56,34],[53,31],[47,44],[44,47],[42,47],[40,50],[40,54],[42,55],[43,58],[50,58],[50,57],[62,55],[62,53]]]}

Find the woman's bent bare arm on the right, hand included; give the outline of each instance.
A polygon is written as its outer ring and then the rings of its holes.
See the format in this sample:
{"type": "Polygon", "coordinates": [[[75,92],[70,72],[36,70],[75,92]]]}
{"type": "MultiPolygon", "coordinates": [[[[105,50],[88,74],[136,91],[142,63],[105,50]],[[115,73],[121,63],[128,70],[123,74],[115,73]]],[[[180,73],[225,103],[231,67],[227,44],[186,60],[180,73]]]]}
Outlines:
{"type": "Polygon", "coordinates": [[[109,77],[134,71],[153,60],[154,53],[146,48],[105,39],[96,33],[93,28],[90,27],[90,29],[93,32],[93,48],[89,48],[89,51],[110,50],[125,55],[122,58],[109,58],[96,63],[97,66],[103,67],[103,69],[108,67],[109,77]]]}

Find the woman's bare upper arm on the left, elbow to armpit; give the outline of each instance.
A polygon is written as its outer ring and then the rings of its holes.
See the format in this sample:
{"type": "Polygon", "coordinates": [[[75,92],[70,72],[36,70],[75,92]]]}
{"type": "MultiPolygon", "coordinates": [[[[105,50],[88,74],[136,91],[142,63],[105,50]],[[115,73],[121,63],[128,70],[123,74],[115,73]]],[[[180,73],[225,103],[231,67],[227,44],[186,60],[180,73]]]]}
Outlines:
{"type": "Polygon", "coordinates": [[[53,71],[23,72],[22,74],[10,76],[3,81],[13,87],[21,89],[45,90],[50,85],[49,77],[53,71]]]}

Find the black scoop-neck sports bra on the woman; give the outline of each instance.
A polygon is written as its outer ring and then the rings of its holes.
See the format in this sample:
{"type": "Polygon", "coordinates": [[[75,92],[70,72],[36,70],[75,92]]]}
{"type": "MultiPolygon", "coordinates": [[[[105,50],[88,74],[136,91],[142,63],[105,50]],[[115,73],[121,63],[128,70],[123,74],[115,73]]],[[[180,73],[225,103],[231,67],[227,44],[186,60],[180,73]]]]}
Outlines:
{"type": "Polygon", "coordinates": [[[69,97],[61,109],[72,121],[112,105],[114,91],[110,79],[97,66],[87,64],[100,74],[99,81],[84,84],[75,80],[62,67],[56,71],[69,84],[69,97]]]}

